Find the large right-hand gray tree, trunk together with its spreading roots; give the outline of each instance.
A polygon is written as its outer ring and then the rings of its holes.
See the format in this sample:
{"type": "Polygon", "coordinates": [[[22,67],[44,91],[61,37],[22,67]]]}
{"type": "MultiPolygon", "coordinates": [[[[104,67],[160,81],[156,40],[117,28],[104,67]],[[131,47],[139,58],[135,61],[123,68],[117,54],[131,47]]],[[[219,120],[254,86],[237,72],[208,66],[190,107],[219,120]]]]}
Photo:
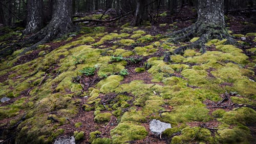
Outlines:
{"type": "Polygon", "coordinates": [[[224,0],[199,0],[198,19],[193,25],[167,35],[167,42],[185,42],[194,37],[199,39],[190,45],[182,46],[174,53],[182,53],[188,48],[201,48],[205,52],[205,43],[210,39],[227,39],[226,44],[237,43],[225,28],[224,0]]]}

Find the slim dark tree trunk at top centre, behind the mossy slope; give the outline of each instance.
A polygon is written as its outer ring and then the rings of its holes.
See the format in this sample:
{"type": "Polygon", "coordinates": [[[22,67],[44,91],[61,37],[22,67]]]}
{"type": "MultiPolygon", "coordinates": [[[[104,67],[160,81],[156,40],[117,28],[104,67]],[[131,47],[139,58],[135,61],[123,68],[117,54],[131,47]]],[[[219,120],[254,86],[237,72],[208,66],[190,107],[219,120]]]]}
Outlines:
{"type": "Polygon", "coordinates": [[[133,25],[137,26],[142,24],[143,21],[148,20],[147,11],[146,11],[146,0],[137,0],[137,6],[135,11],[135,18],[133,21],[133,25]]]}

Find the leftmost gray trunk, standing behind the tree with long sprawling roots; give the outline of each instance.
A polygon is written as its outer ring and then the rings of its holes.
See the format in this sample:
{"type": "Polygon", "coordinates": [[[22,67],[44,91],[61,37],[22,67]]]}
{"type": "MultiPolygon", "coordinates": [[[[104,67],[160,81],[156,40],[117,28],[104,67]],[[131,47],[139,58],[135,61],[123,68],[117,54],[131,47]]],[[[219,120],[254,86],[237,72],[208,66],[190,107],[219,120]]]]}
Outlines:
{"type": "Polygon", "coordinates": [[[27,3],[27,25],[24,34],[34,33],[42,27],[43,1],[28,0],[27,3]]]}

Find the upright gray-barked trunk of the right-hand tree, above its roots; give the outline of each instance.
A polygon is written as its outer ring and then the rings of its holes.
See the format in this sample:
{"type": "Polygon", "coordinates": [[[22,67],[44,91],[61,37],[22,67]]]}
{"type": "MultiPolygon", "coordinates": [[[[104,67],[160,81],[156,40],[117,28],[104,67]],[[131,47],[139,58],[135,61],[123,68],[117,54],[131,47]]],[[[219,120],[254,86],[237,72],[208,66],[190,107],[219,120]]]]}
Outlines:
{"type": "Polygon", "coordinates": [[[224,0],[199,0],[198,22],[224,27],[224,0]]]}

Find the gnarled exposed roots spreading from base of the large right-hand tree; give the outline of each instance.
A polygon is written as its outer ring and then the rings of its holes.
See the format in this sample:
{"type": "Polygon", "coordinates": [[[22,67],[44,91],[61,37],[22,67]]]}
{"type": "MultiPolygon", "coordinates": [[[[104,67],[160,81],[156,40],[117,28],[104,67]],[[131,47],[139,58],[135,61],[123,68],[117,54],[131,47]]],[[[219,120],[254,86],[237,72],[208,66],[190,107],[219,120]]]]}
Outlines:
{"type": "Polygon", "coordinates": [[[167,34],[165,38],[167,43],[187,42],[194,37],[199,37],[195,42],[191,42],[188,45],[181,46],[174,51],[174,54],[181,54],[186,49],[200,49],[202,53],[206,51],[206,45],[209,40],[212,39],[227,39],[225,44],[236,44],[237,41],[231,37],[224,27],[210,26],[202,22],[196,22],[182,30],[176,31],[174,33],[167,34]]]}

